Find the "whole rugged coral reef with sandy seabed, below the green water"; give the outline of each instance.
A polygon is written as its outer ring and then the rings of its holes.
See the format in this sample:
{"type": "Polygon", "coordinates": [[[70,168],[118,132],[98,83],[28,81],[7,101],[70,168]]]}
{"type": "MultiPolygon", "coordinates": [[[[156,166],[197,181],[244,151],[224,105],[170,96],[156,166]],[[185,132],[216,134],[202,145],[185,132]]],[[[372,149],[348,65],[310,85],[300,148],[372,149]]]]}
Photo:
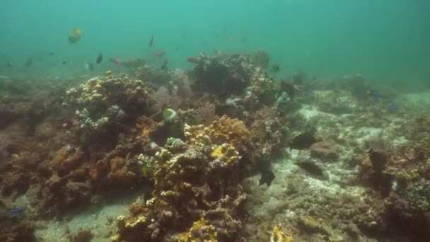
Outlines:
{"type": "Polygon", "coordinates": [[[277,79],[262,50],[189,60],[2,77],[0,241],[430,240],[422,106],[360,75],[277,79]]]}

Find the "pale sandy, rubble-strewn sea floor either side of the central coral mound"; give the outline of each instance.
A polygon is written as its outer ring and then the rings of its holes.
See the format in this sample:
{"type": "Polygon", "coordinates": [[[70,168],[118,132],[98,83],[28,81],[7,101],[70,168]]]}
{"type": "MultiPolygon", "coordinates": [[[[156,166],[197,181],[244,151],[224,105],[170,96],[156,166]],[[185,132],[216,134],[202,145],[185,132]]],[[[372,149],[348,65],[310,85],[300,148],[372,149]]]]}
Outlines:
{"type": "MultiPolygon", "coordinates": [[[[425,121],[429,117],[430,91],[363,102],[356,101],[348,91],[313,92],[318,98],[286,114],[286,119],[301,122],[300,128],[291,125],[286,132],[298,137],[303,127],[314,127],[316,142],[306,149],[282,148],[270,167],[274,173],[270,185],[259,184],[260,173],[241,184],[247,200],[239,234],[246,241],[273,241],[277,226],[281,234],[294,241],[380,241],[399,224],[409,222],[395,209],[399,201],[408,199],[412,204],[415,197],[393,197],[412,194],[415,185],[421,184],[419,175],[428,178],[419,169],[430,163],[425,121]],[[378,145],[373,144],[375,140],[378,145]],[[389,156],[387,163],[369,161],[376,146],[389,156]],[[375,174],[384,180],[378,180],[375,174]],[[407,185],[399,188],[400,182],[407,185]],[[387,219],[393,216],[391,213],[400,217],[399,224],[387,219]]],[[[45,130],[45,136],[55,132],[43,123],[35,130],[36,137],[39,130],[45,130]]],[[[53,143],[55,150],[61,151],[65,143],[53,143]]],[[[131,160],[128,158],[129,154],[124,163],[131,160]]],[[[25,207],[26,219],[30,217],[35,223],[37,241],[48,242],[112,241],[119,218],[130,217],[130,204],[143,200],[141,192],[123,190],[110,195],[115,199],[65,212],[61,219],[42,219],[35,197],[35,190],[30,188],[16,197],[2,195],[1,201],[4,207],[25,207]]],[[[422,194],[417,197],[425,200],[422,194]]],[[[408,229],[387,241],[414,241],[410,235],[413,231],[408,229]]]]}

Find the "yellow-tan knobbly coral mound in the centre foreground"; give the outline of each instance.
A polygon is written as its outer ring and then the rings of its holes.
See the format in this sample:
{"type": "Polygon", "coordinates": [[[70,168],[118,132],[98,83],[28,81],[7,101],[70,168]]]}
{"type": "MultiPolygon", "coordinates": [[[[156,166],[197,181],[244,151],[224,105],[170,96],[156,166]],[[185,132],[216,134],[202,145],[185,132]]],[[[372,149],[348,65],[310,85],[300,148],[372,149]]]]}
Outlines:
{"type": "Polygon", "coordinates": [[[234,238],[241,228],[246,196],[240,180],[250,156],[250,132],[243,122],[223,116],[208,127],[185,125],[185,142],[169,138],[151,167],[154,189],[140,214],[120,219],[117,241],[180,241],[234,238]],[[187,232],[188,231],[188,232],[187,232]]]}

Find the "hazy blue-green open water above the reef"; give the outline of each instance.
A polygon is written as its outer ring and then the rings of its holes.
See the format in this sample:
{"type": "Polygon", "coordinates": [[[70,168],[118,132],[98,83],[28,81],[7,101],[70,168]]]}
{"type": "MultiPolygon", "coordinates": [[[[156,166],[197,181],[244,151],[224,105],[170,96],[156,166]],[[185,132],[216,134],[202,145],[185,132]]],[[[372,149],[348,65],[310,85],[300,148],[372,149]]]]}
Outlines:
{"type": "Polygon", "coordinates": [[[96,71],[105,71],[113,67],[109,57],[151,61],[161,50],[171,68],[186,68],[199,52],[262,49],[281,64],[278,76],[300,69],[320,79],[360,73],[428,83],[429,18],[423,0],[3,0],[0,73],[84,73],[99,52],[105,59],[96,71]],[[71,45],[74,28],[83,38],[71,45]]]}

